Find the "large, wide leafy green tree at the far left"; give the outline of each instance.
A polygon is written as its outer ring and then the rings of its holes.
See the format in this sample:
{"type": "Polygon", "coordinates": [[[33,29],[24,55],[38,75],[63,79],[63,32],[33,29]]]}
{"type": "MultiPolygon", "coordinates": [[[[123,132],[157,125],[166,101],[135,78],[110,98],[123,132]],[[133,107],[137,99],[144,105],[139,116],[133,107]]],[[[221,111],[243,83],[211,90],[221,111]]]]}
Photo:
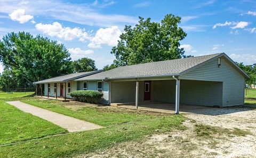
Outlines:
{"type": "Polygon", "coordinates": [[[63,44],[28,32],[11,32],[0,40],[0,62],[26,79],[30,85],[72,72],[70,54],[63,44]]]}

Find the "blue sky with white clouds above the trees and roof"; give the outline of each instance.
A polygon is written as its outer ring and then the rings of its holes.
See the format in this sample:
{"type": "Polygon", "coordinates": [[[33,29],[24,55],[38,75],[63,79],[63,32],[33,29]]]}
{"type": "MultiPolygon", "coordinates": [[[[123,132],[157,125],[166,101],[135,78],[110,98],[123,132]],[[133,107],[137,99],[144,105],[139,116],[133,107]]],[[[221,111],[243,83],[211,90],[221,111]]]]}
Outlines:
{"type": "MultiPolygon", "coordinates": [[[[97,68],[111,64],[111,47],[138,16],[161,21],[181,16],[186,55],[225,52],[234,61],[256,63],[256,1],[0,1],[0,38],[28,31],[65,44],[72,60],[90,57],[97,68]]],[[[3,66],[0,65],[0,72],[3,66]]]]}

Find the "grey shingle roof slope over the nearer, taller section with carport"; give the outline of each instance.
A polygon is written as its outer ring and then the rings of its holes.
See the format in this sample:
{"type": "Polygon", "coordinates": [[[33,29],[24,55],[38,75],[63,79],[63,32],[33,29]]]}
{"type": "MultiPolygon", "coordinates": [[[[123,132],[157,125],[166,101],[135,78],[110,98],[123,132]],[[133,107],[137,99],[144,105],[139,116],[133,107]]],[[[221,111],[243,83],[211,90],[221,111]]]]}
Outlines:
{"type": "MultiPolygon", "coordinates": [[[[143,76],[157,76],[157,75],[177,75],[194,66],[201,64],[207,60],[212,59],[222,53],[188,57],[183,59],[158,61],[151,63],[143,63],[136,65],[121,66],[112,70],[92,74],[83,78],[76,79],[76,81],[83,80],[102,80],[102,79],[121,79],[143,76]]],[[[223,53],[224,54],[224,53],[223,53]]]]}

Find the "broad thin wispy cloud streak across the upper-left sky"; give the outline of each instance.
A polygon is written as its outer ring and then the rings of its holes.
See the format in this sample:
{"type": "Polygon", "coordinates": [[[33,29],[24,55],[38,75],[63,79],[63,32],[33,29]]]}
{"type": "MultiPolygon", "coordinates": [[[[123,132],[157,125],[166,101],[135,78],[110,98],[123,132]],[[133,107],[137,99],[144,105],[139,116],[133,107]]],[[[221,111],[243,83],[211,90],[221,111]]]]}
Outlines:
{"type": "Polygon", "coordinates": [[[18,0],[1,1],[1,13],[24,9],[27,14],[46,16],[55,20],[69,21],[89,26],[123,26],[137,23],[137,17],[121,14],[101,14],[91,4],[70,4],[61,1],[38,0],[20,3],[18,0]]]}

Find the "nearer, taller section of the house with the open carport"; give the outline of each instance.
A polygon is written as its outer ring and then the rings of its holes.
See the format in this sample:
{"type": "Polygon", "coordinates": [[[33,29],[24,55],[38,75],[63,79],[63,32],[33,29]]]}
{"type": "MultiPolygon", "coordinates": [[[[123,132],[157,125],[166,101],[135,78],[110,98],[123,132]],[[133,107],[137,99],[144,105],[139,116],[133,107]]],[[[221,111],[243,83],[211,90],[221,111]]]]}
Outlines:
{"type": "Polygon", "coordinates": [[[249,76],[234,61],[218,53],[121,66],[71,82],[77,90],[102,92],[103,104],[134,103],[138,108],[142,102],[175,103],[175,113],[179,113],[180,103],[243,105],[246,78],[249,76]]]}

